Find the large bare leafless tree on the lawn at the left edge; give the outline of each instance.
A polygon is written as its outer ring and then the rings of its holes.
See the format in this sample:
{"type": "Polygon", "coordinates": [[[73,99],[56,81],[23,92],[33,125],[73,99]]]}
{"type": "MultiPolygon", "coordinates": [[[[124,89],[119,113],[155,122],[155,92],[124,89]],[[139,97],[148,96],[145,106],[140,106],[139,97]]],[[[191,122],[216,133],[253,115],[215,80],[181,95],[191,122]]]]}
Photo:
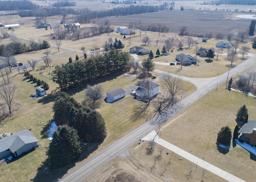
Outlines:
{"type": "Polygon", "coordinates": [[[0,96],[4,99],[5,104],[8,106],[9,113],[12,114],[12,104],[13,99],[15,98],[15,92],[17,90],[16,85],[10,83],[4,84],[0,87],[0,96]]]}

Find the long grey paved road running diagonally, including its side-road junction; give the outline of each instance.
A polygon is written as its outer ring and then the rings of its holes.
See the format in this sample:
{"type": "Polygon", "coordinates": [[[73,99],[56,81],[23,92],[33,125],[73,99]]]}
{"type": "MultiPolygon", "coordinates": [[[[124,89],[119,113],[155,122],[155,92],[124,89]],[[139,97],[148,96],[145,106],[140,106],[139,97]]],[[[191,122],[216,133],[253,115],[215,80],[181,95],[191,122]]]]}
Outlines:
{"type": "MultiPolygon", "coordinates": [[[[164,121],[167,121],[168,119],[172,118],[174,115],[178,114],[180,111],[184,110],[196,100],[204,96],[204,94],[208,93],[210,90],[218,86],[218,84],[221,84],[222,82],[226,81],[227,78],[230,78],[231,76],[238,74],[240,71],[242,71],[244,68],[247,68],[252,64],[256,59],[256,55],[250,57],[240,65],[230,69],[230,72],[228,72],[214,77],[214,78],[187,78],[181,76],[184,80],[190,80],[190,82],[195,83],[197,87],[196,91],[181,100],[178,105],[179,107],[176,110],[168,110],[166,112],[166,118],[164,121]],[[200,81],[201,79],[204,79],[204,82],[200,81]],[[208,82],[207,82],[208,79],[208,82]]],[[[164,122],[163,121],[163,122],[164,122]]],[[[162,124],[162,123],[160,123],[162,124]]],[[[82,180],[84,177],[86,177],[88,174],[108,162],[109,160],[116,157],[118,154],[120,154],[122,151],[126,150],[128,147],[133,145],[134,143],[138,142],[139,139],[150,133],[152,130],[154,130],[156,127],[158,127],[158,121],[156,121],[155,118],[150,119],[149,121],[146,121],[144,124],[140,125],[137,129],[130,132],[125,137],[121,138],[120,140],[116,141],[94,157],[90,158],[74,170],[68,172],[66,175],[64,175],[59,181],[60,182],[78,182],[82,180]]]]}

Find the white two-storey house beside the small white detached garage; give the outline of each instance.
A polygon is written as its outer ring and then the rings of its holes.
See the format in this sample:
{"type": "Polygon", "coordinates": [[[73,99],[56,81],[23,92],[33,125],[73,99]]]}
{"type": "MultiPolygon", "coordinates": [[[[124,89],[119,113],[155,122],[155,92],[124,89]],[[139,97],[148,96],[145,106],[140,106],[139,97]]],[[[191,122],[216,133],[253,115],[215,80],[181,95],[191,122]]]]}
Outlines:
{"type": "Polygon", "coordinates": [[[144,96],[148,98],[152,98],[158,93],[159,93],[159,85],[150,81],[142,82],[142,84],[140,84],[140,86],[135,90],[135,95],[138,96],[139,98],[142,98],[144,96]]]}

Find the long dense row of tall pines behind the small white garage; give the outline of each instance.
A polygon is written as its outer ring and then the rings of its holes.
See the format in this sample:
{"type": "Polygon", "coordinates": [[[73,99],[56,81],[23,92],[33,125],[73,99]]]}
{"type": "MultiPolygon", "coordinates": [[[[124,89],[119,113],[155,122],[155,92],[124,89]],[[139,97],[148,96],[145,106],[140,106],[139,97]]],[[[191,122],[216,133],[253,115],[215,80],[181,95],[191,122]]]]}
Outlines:
{"type": "Polygon", "coordinates": [[[87,84],[102,76],[125,70],[129,60],[130,53],[120,52],[113,47],[109,52],[85,61],[57,65],[53,71],[53,80],[61,89],[87,84]]]}

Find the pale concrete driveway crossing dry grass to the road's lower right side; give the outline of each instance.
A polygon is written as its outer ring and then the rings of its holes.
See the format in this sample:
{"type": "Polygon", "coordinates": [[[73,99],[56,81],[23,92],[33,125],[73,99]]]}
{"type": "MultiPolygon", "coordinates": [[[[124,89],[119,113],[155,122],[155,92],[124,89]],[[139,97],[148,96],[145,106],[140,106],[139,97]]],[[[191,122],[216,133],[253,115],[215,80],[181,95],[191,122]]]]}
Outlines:
{"type": "Polygon", "coordinates": [[[227,181],[230,182],[246,182],[208,162],[206,162],[205,160],[202,160],[178,147],[176,147],[175,145],[172,145],[171,143],[161,139],[157,134],[156,131],[152,131],[150,132],[148,135],[146,135],[145,137],[143,137],[141,139],[143,140],[147,140],[147,141],[154,141],[156,143],[158,143],[159,145],[162,145],[163,147],[165,147],[166,149],[169,149],[170,151],[180,155],[181,157],[190,160],[191,162],[193,162],[194,164],[197,164],[198,166],[220,176],[221,178],[224,178],[227,181]]]}

